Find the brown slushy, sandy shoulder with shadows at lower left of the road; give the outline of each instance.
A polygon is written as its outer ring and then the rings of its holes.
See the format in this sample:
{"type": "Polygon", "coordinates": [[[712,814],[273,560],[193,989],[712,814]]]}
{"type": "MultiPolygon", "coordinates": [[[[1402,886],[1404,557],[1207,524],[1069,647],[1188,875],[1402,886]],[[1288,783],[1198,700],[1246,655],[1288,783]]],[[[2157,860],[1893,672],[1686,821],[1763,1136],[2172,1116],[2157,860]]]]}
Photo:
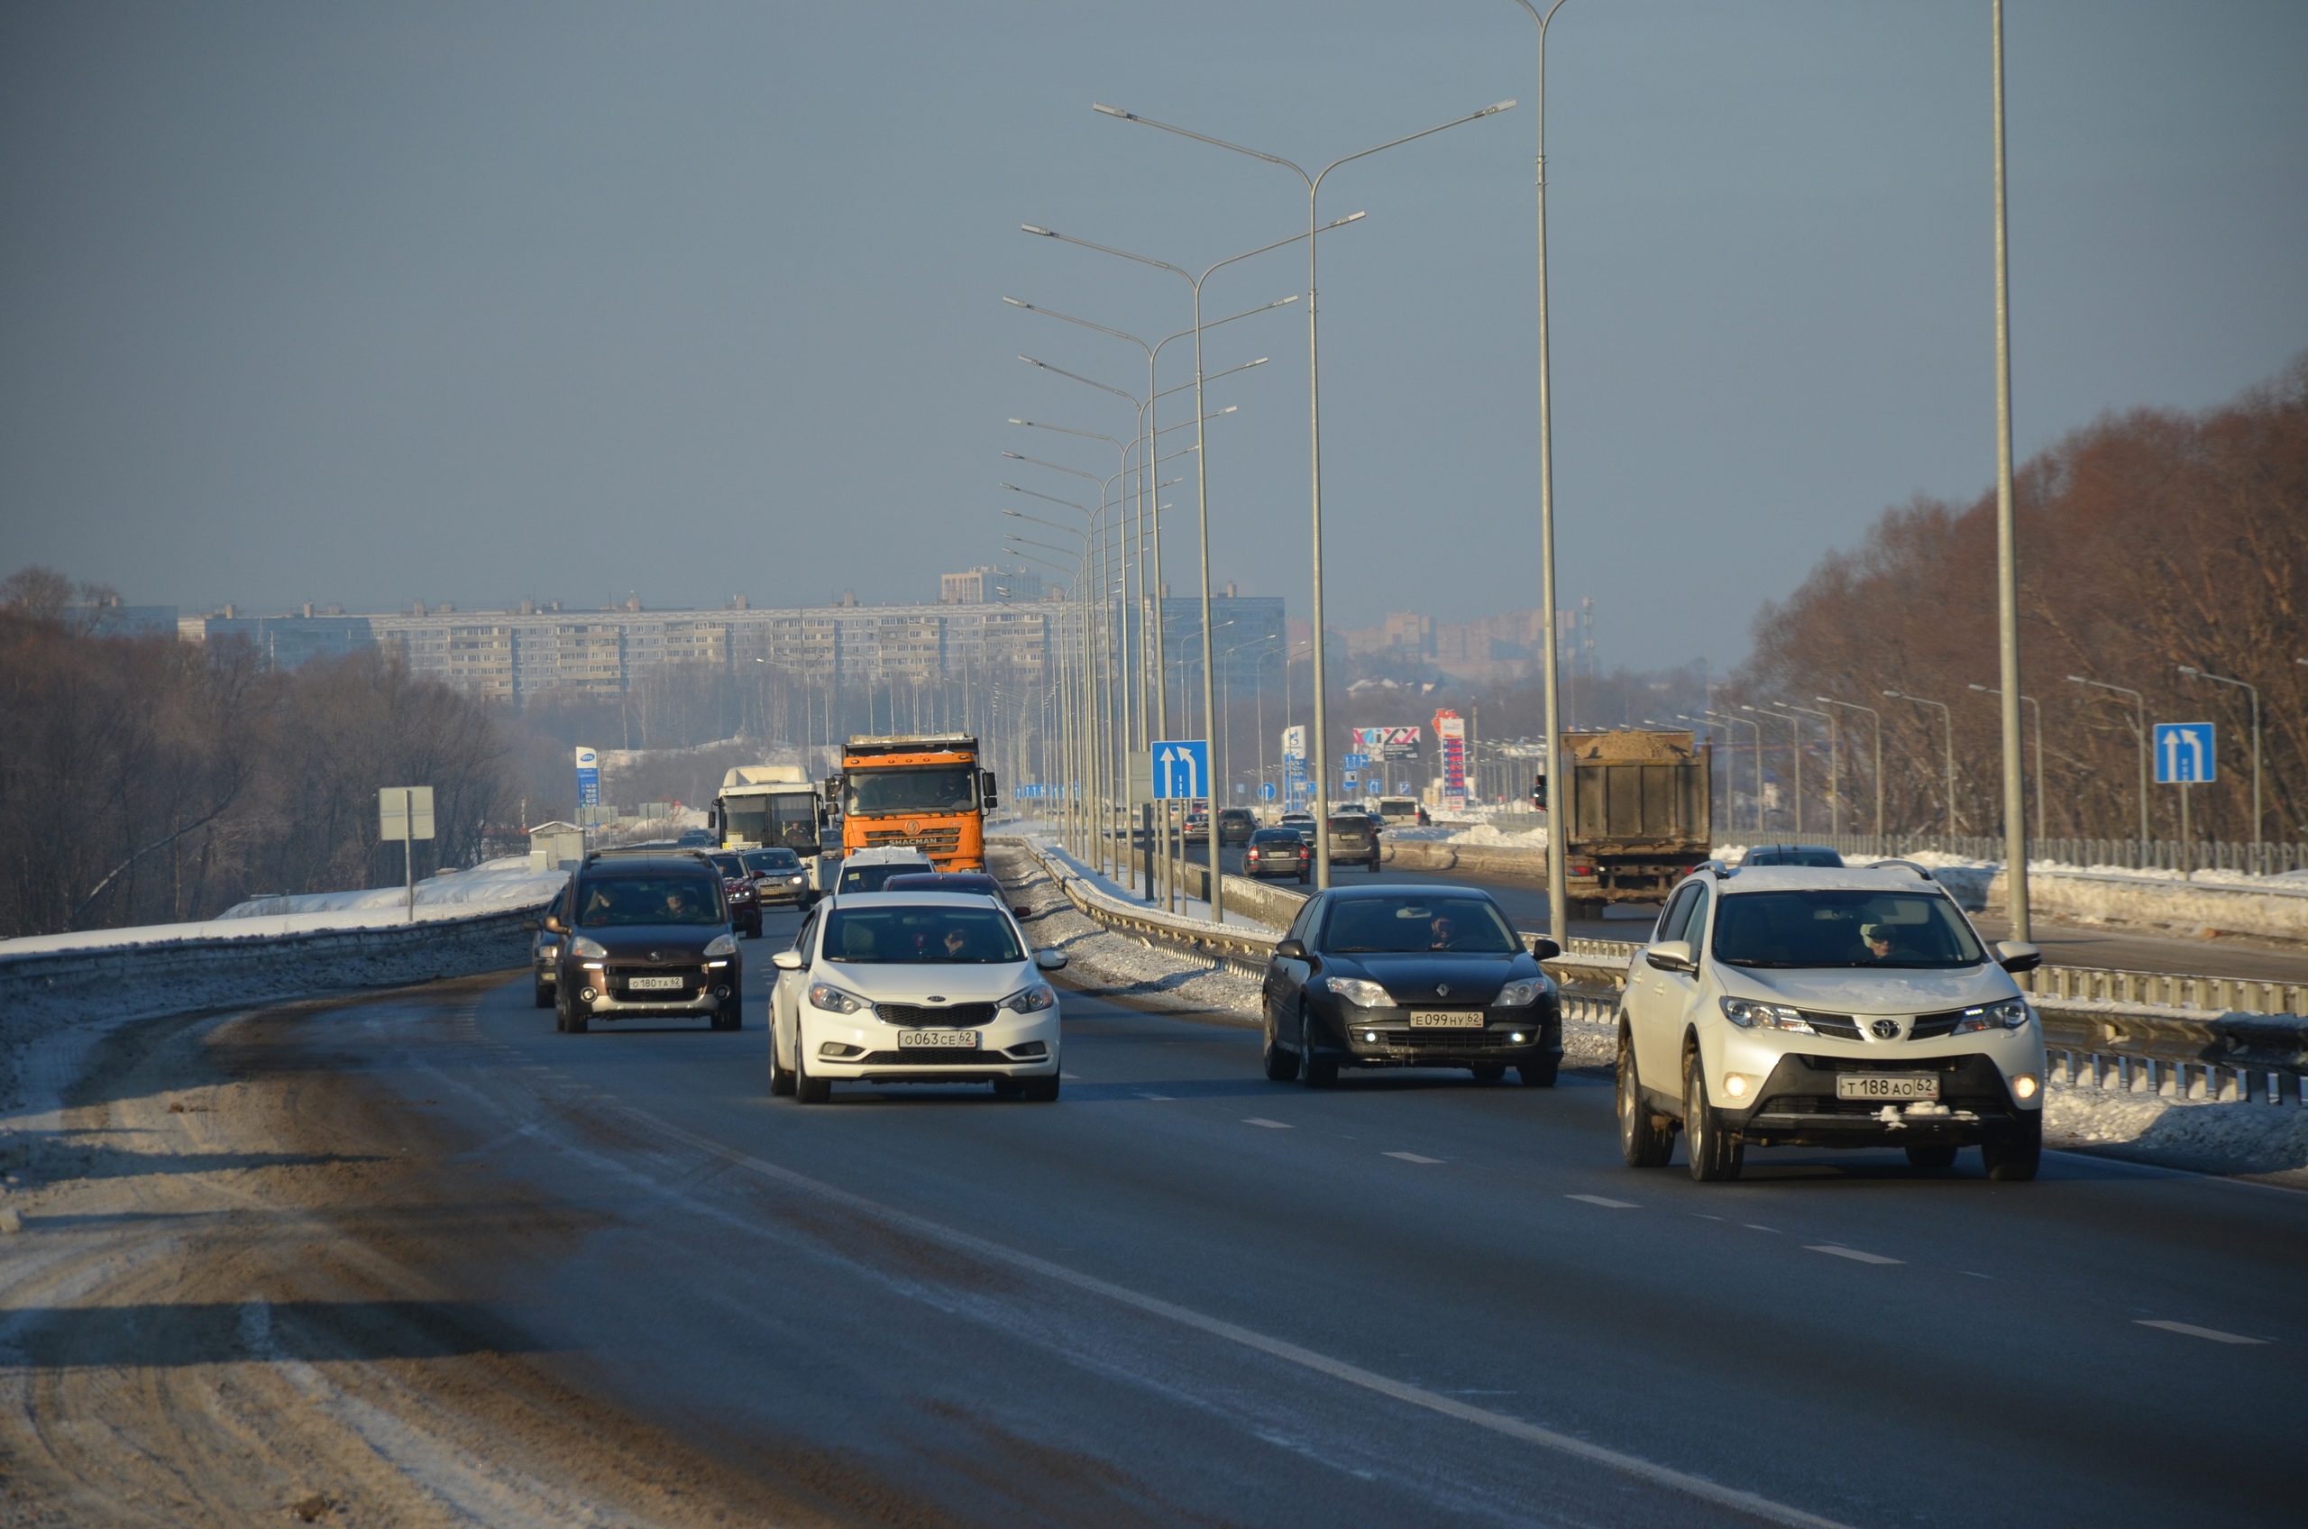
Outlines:
{"type": "Polygon", "coordinates": [[[450,1053],[496,982],[125,1025],[16,1118],[0,1524],[939,1522],[815,1450],[637,1423],[496,1314],[589,1226],[355,1049],[420,1007],[450,1053]]]}

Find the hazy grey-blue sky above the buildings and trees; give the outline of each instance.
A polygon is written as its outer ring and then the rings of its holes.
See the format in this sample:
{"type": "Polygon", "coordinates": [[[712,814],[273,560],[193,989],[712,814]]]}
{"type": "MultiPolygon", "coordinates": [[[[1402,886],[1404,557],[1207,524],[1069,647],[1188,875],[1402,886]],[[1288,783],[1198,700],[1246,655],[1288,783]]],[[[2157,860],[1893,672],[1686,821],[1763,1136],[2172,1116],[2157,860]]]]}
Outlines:
{"type": "MultiPolygon", "coordinates": [[[[997,554],[1002,448],[1110,471],[1006,416],[1129,434],[1016,356],[1145,374],[999,298],[1189,314],[1018,224],[1182,266],[1304,224],[1286,173],[1092,99],[1322,162],[1519,97],[1325,187],[1369,210],[1322,256],[1325,506],[1336,624],[1533,605],[1530,30],[1507,0],[7,7],[0,561],[187,607],[935,598],[997,554]]],[[[2008,49],[2022,450],[2308,346],[2308,7],[2013,0],[2008,49]]],[[[1563,596],[1606,663],[1733,661],[1886,504],[1992,478],[1987,0],[1569,0],[1551,53],[1563,596]]],[[[1302,286],[1262,256],[1207,303],[1302,286]]],[[[1214,388],[1214,573],[1299,617],[1304,349],[1302,305],[1207,340],[1274,356],[1214,388]]]]}

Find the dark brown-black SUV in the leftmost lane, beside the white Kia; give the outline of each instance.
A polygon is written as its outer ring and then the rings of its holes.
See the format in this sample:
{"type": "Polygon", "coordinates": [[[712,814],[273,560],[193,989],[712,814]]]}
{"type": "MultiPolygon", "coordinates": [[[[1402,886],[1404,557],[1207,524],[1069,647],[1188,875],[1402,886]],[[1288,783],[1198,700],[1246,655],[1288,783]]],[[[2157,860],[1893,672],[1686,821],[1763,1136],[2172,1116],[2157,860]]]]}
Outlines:
{"type": "Polygon", "coordinates": [[[556,1030],[605,1019],[743,1023],[745,965],[720,866],[704,855],[591,855],[545,919],[561,938],[556,1030]]]}

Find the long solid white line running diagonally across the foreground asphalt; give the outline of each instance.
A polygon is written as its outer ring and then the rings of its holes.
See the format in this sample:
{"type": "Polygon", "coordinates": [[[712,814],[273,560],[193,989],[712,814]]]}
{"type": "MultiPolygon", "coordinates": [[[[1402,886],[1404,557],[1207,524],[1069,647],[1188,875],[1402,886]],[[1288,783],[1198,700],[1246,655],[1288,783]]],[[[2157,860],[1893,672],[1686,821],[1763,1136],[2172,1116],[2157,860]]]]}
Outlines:
{"type": "MultiPolygon", "coordinates": [[[[1193,1328],[1196,1333],[1207,1333],[1209,1337],[1221,1337],[1230,1344],[1256,1349],[1283,1363],[1313,1370],[1316,1374],[1327,1374],[1334,1381],[1346,1381],[1348,1386],[1376,1390],[1378,1395],[1394,1397],[1396,1402],[1408,1402],[1410,1407],[1424,1407],[1426,1411],[1442,1414],[1445,1418],[1473,1423],[1475,1427],[1489,1430],[1493,1434],[1505,1434],[1507,1439],[1519,1439],[1523,1444],[1537,1444],[1539,1448],[1572,1455],[1574,1460],[1586,1460],[1588,1464],[1599,1464],[1609,1471],[1620,1471],[1623,1476],[1648,1480],[1655,1487],[1664,1487],[1669,1492],[1683,1492],[1685,1497],[1696,1497],[1701,1501],[1731,1508],[1736,1513],[1747,1513],[1749,1517],[1761,1517],[1773,1524],[1789,1524],[1789,1529],[1849,1529],[1849,1524],[1842,1524],[1833,1517],[1805,1513],[1803,1508],[1773,1501],[1756,1492],[1740,1492],[1738,1487],[1726,1487],[1706,1480],[1703,1476],[1692,1476],[1689,1471],[1678,1471],[1669,1464],[1643,1460],[1641,1455],[1627,1455],[1613,1448],[1604,1448],[1599,1444],[1588,1444],[1586,1439],[1576,1439],[1572,1434],[1558,1434],[1551,1427],[1539,1427],[1537,1423],[1523,1423],[1521,1418],[1509,1418],[1507,1414],[1489,1411],[1484,1407],[1468,1407],[1466,1402],[1447,1397],[1438,1390],[1426,1390],[1424,1386],[1412,1386],[1410,1381],[1396,1381],[1392,1377],[1378,1374],[1376,1370],[1364,1370],[1362,1365],[1348,1365],[1346,1360],[1329,1358],[1327,1353],[1318,1353],[1313,1349],[1302,1349],[1299,1344],[1286,1342],[1281,1337],[1267,1337],[1256,1328],[1244,1328],[1239,1323],[1226,1321],[1223,1317],[1205,1317],[1193,1307],[1163,1300],[1161,1296],[1145,1296],[1140,1291],[1129,1289],[1126,1284],[1112,1284],[1110,1280],[1085,1275],[1078,1268],[1066,1268],[1064,1263],[1052,1263],[1050,1259],[1041,1259],[1029,1252],[1020,1252],[1016,1247],[1004,1247],[1002,1243],[990,1243],[967,1231],[956,1231],[953,1226],[944,1226],[939,1222],[930,1222],[926,1217],[896,1210],[879,1201],[870,1201],[863,1194],[852,1194],[849,1189],[835,1189],[829,1183],[810,1178],[808,1173],[796,1173],[794,1169],[782,1169],[773,1162],[764,1162],[762,1157],[750,1157],[734,1148],[725,1148],[722,1143],[709,1136],[699,1136],[697,1132],[683,1129],[672,1120],[662,1120],[644,1109],[635,1109],[632,1104],[616,1104],[614,1109],[628,1113],[630,1118],[635,1118],[637,1122],[646,1125],[649,1129],[669,1141],[681,1141],[699,1153],[706,1153],[709,1157],[727,1162],[729,1166],[743,1169],[745,1173],[755,1173],[757,1178],[773,1180],[792,1189],[803,1189],[835,1206],[845,1206],[861,1215],[870,1215],[879,1220],[884,1226],[912,1231],[914,1236],[939,1240],[958,1252],[969,1252],[981,1259],[1009,1263],[1011,1268],[1020,1268],[1025,1273],[1055,1280],[1057,1284],[1071,1284],[1078,1291],[1103,1296],[1106,1300],[1112,1300],[1115,1305],[1126,1305],[1133,1312],[1145,1312],[1147,1317],[1161,1317],[1163,1321],[1175,1321],[1182,1328],[1193,1328]]],[[[1265,1125],[1276,1125],[1276,1122],[1267,1120],[1265,1125]]]]}

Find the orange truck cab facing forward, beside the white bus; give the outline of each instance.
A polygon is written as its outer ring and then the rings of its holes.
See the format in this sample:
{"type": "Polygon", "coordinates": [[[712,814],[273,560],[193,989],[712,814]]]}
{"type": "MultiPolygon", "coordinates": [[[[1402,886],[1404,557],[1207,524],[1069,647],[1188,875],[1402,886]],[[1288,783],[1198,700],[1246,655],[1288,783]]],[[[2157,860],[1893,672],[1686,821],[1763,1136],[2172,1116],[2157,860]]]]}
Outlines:
{"type": "Polygon", "coordinates": [[[995,776],[974,737],[852,737],[826,799],[842,806],[842,855],[921,850],[939,871],[986,868],[995,776]]]}

